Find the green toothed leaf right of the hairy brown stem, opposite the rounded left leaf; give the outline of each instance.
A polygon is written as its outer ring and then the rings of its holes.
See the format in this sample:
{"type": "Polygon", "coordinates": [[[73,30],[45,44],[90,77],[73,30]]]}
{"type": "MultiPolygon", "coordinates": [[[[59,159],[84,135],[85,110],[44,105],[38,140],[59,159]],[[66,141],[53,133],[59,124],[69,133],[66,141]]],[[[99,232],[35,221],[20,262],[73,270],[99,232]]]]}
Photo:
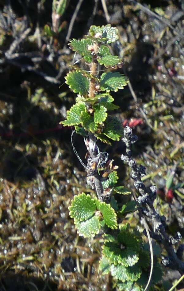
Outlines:
{"type": "Polygon", "coordinates": [[[103,73],[100,77],[100,89],[102,91],[114,91],[117,92],[118,89],[124,89],[127,85],[128,79],[120,74],[119,72],[103,73]]]}

